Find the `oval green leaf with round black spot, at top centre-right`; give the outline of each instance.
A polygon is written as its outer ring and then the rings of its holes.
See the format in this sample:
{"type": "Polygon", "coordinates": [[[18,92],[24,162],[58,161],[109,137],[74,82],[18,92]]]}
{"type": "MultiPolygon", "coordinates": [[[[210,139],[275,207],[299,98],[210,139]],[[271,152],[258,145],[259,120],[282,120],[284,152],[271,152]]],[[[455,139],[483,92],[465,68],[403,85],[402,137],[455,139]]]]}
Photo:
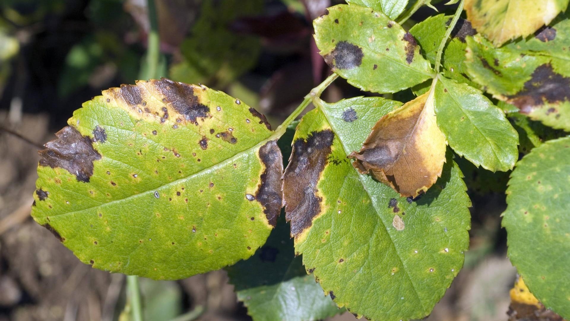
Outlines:
{"type": "Polygon", "coordinates": [[[412,34],[380,11],[337,5],[313,25],[325,61],[360,89],[395,93],[433,75],[412,34]]]}

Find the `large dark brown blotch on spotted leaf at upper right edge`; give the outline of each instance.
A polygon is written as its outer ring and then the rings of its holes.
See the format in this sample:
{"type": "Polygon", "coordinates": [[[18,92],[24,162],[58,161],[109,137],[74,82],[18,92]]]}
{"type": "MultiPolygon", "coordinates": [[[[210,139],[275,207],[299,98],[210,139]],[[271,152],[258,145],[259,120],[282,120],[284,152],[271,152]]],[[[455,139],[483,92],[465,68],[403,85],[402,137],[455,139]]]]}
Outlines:
{"type": "Polygon", "coordinates": [[[523,90],[509,96],[509,103],[523,114],[530,114],[544,103],[570,101],[570,78],[555,73],[550,64],[535,69],[531,79],[524,83],[523,90]]]}

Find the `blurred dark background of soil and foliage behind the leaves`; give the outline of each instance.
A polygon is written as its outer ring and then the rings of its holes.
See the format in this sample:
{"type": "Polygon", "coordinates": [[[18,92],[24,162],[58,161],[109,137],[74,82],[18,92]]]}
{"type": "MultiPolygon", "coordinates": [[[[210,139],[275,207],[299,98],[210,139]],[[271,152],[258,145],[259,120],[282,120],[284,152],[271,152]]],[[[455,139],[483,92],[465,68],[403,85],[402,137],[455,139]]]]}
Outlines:
{"type": "MultiPolygon", "coordinates": [[[[225,91],[276,127],[330,72],[311,21],[336,3],[157,0],[159,73],[225,91]]],[[[407,23],[433,14],[425,7],[407,23]]],[[[36,150],[84,101],[145,74],[148,33],[146,0],[0,1],[0,321],[119,318],[124,276],[79,262],[29,214],[36,150]]],[[[338,79],[323,98],[357,95],[370,94],[338,79]]],[[[408,101],[412,93],[393,98],[408,101]]],[[[473,200],[471,247],[429,320],[506,320],[516,274],[500,228],[508,173],[458,162],[473,200]]],[[[170,320],[202,306],[200,320],[249,320],[227,281],[223,270],[177,282],[141,279],[146,319],[170,320]]]]}

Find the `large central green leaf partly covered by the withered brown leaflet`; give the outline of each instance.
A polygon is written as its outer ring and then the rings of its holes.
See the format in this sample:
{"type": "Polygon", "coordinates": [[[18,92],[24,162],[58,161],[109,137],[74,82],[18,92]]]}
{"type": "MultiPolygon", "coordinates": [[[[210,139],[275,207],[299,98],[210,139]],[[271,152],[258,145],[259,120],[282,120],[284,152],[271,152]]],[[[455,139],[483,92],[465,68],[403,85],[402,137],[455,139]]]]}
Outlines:
{"type": "Polygon", "coordinates": [[[402,198],[347,159],[378,118],[401,105],[357,97],[299,123],[284,174],[284,203],[303,263],[341,307],[371,320],[421,319],[463,264],[470,200],[450,154],[442,177],[402,198]]]}

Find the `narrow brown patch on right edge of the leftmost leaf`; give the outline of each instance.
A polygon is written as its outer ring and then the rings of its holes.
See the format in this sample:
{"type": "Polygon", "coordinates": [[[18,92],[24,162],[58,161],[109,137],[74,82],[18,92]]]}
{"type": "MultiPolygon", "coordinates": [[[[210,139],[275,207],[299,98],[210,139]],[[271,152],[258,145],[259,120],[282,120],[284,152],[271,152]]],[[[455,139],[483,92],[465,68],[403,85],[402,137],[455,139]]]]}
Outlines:
{"type": "Polygon", "coordinates": [[[275,226],[281,211],[281,175],[283,173],[283,156],[277,146],[277,141],[269,141],[263,145],[259,149],[259,159],[265,169],[260,176],[254,199],[262,204],[267,221],[275,226]]]}

